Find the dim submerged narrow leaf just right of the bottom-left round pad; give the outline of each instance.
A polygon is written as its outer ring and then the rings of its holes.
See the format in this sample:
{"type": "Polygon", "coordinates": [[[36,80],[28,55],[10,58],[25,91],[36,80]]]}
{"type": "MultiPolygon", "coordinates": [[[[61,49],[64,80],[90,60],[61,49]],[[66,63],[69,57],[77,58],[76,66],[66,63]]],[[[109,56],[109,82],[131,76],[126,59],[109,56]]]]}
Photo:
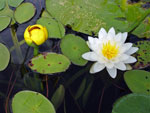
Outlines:
{"type": "Polygon", "coordinates": [[[64,100],[64,96],[65,96],[65,88],[64,88],[63,85],[60,85],[60,86],[56,89],[56,91],[55,91],[55,93],[53,94],[52,99],[51,99],[51,101],[52,101],[52,103],[53,103],[55,109],[57,109],[57,108],[61,105],[61,103],[62,103],[63,100],[64,100]]]}

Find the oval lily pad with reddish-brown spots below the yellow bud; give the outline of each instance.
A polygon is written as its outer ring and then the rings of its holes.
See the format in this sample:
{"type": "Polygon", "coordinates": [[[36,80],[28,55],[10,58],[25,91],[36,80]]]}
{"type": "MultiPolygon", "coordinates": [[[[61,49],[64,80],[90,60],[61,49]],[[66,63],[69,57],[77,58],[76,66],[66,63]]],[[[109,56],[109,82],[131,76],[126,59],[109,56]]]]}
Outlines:
{"type": "Polygon", "coordinates": [[[42,74],[53,74],[66,71],[70,61],[62,54],[43,53],[32,58],[28,65],[33,71],[42,74]]]}

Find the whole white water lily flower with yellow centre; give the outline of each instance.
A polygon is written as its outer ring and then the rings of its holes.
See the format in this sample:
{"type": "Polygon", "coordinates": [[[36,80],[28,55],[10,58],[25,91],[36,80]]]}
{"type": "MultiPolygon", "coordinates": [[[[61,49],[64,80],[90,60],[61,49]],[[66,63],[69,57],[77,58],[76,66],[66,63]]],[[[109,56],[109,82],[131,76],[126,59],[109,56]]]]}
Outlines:
{"type": "Polygon", "coordinates": [[[101,28],[98,38],[88,37],[87,45],[92,50],[84,53],[82,57],[95,63],[90,68],[90,73],[96,73],[106,67],[112,78],[117,76],[117,69],[127,70],[127,64],[136,62],[131,56],[138,48],[132,47],[132,43],[125,43],[127,32],[115,33],[112,27],[108,33],[101,28]]]}

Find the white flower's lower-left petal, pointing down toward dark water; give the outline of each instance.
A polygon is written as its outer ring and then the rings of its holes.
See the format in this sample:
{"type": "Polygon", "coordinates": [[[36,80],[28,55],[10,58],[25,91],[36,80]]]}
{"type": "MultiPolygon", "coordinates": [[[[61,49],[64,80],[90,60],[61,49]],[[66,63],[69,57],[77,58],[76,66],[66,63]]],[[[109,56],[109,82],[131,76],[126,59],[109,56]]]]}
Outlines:
{"type": "Polygon", "coordinates": [[[105,66],[103,64],[96,62],[90,68],[90,73],[97,73],[97,72],[103,70],[104,68],[105,68],[105,66]]]}

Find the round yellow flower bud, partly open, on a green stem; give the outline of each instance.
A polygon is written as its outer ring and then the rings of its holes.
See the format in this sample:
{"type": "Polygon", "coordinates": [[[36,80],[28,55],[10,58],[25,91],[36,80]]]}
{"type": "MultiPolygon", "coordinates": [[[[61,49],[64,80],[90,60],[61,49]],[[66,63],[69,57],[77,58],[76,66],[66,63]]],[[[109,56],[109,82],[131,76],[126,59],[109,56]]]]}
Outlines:
{"type": "Polygon", "coordinates": [[[24,39],[29,46],[41,45],[47,38],[47,29],[39,24],[28,26],[24,32],[24,39]]]}

